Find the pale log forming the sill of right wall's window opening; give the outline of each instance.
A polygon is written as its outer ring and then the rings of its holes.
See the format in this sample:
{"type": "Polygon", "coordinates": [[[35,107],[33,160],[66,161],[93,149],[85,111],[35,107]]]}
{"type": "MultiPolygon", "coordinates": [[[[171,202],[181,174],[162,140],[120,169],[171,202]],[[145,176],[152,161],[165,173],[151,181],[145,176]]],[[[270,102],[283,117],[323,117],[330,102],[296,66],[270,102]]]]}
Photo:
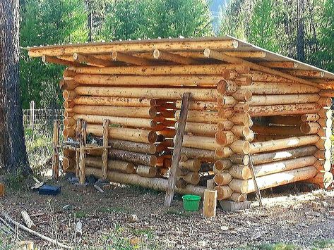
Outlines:
{"type": "Polygon", "coordinates": [[[266,151],[279,149],[287,149],[296,146],[305,146],[318,142],[318,135],[305,135],[302,137],[289,137],[284,139],[276,139],[268,142],[252,142],[250,144],[249,153],[256,154],[266,151]]]}

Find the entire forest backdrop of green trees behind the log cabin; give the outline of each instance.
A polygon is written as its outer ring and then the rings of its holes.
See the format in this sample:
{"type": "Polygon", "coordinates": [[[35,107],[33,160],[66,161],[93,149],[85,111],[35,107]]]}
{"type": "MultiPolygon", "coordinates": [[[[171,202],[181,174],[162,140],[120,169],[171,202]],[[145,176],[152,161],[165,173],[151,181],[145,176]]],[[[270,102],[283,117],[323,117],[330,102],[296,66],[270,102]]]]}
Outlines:
{"type": "MultiPolygon", "coordinates": [[[[334,0],[20,0],[22,47],[213,35],[334,72],[334,0]]],[[[63,68],[42,64],[22,50],[23,108],[61,107],[63,68]]]]}

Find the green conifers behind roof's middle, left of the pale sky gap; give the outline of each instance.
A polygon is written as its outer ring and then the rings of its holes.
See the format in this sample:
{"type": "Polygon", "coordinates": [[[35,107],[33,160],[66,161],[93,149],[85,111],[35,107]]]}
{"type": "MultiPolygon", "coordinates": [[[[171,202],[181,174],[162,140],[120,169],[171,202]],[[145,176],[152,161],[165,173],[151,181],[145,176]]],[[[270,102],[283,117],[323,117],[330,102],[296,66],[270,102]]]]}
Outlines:
{"type": "Polygon", "coordinates": [[[119,0],[107,6],[100,39],[212,35],[204,0],[119,0]]]}

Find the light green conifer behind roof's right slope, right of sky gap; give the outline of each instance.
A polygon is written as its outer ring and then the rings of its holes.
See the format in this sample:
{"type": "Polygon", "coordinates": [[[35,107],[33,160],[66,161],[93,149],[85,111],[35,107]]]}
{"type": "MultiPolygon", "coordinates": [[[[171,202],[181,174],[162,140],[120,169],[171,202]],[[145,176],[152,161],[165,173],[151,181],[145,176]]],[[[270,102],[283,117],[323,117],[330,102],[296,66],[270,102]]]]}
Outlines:
{"type": "Polygon", "coordinates": [[[274,2],[257,0],[251,17],[249,42],[270,51],[278,51],[274,2]]]}

